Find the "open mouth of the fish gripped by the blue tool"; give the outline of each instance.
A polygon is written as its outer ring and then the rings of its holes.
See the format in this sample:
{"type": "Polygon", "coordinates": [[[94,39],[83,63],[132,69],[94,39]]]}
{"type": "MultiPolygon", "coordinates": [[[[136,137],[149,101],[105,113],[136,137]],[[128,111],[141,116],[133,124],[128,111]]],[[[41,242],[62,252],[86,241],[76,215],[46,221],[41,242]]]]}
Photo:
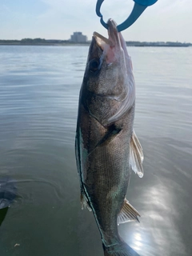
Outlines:
{"type": "Polygon", "coordinates": [[[121,46],[119,33],[117,30],[117,23],[114,22],[112,18],[110,18],[107,22],[108,25],[108,35],[109,38],[105,38],[102,34],[98,34],[98,32],[94,32],[93,37],[95,38],[98,46],[104,49],[106,45],[110,47],[121,46]]]}

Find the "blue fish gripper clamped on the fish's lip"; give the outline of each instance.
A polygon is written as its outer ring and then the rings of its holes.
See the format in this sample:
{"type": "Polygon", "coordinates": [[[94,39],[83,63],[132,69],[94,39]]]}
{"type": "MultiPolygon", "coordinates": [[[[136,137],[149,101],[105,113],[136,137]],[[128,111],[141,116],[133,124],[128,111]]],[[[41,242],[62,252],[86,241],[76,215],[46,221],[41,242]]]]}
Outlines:
{"type": "MultiPolygon", "coordinates": [[[[103,21],[102,14],[100,11],[103,1],[104,0],[98,0],[96,4],[96,14],[98,15],[98,17],[100,17],[100,22],[102,23],[102,26],[108,29],[108,25],[106,24],[106,22],[103,21]]],[[[122,24],[117,26],[118,32],[126,30],[138,19],[142,12],[146,10],[147,6],[152,6],[157,1],[158,0],[134,0],[134,8],[130,13],[130,16],[126,19],[125,22],[122,22],[122,24]]]]}

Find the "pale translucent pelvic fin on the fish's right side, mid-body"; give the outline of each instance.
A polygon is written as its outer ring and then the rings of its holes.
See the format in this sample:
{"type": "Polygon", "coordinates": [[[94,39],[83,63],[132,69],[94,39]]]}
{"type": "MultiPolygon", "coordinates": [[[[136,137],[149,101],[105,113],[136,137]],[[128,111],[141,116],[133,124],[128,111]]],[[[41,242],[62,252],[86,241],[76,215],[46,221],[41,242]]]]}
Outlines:
{"type": "Polygon", "coordinates": [[[138,174],[140,178],[143,176],[143,159],[142,146],[138,141],[137,135],[133,131],[130,138],[130,166],[132,170],[134,170],[135,174],[138,174]]]}

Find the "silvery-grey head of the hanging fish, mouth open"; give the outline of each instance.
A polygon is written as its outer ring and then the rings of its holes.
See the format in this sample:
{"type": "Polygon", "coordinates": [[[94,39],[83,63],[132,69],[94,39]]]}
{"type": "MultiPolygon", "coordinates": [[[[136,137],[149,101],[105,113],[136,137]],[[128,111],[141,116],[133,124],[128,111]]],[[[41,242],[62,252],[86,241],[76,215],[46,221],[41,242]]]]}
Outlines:
{"type": "MultiPolygon", "coordinates": [[[[99,115],[96,118],[102,118],[105,124],[121,118],[134,104],[135,98],[134,76],[126,42],[118,33],[116,22],[109,19],[107,23],[109,38],[97,32],[93,34],[83,79],[86,90],[94,95],[90,113],[95,116],[96,110],[99,115]]],[[[90,96],[86,105],[90,105],[90,96]]]]}

